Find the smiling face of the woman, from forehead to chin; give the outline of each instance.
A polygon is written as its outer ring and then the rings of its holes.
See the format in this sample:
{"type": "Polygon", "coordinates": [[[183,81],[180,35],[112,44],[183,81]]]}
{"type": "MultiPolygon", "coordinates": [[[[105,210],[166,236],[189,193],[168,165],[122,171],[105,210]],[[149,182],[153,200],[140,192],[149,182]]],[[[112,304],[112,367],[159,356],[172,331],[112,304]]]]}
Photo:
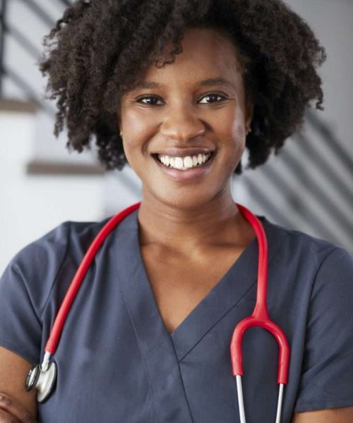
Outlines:
{"type": "Polygon", "coordinates": [[[118,120],[143,200],[189,208],[229,195],[252,107],[230,39],[189,28],[182,45],[174,63],[151,66],[124,94],[118,120]]]}

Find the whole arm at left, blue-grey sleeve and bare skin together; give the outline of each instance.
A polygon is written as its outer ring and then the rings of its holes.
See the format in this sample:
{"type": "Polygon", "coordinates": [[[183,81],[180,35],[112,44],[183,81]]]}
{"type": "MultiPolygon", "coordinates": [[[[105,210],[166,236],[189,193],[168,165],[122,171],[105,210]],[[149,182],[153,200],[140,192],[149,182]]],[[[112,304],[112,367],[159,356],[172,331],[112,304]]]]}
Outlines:
{"type": "Polygon", "coordinates": [[[18,423],[23,408],[37,418],[37,390],[25,391],[25,378],[31,363],[40,362],[42,314],[64,262],[69,230],[63,223],[25,246],[0,277],[0,393],[6,395],[0,423],[18,423]]]}

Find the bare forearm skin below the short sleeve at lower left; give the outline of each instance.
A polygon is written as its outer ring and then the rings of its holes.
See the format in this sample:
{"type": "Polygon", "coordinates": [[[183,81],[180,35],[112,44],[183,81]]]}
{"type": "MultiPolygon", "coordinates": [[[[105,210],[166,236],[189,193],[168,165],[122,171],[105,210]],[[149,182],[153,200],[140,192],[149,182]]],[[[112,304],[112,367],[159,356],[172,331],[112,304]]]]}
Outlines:
{"type": "MultiPolygon", "coordinates": [[[[23,419],[23,407],[37,418],[37,391],[25,391],[25,377],[32,367],[30,362],[10,350],[0,347],[0,393],[5,394],[0,401],[0,413],[10,412],[19,422],[31,423],[34,419],[23,419]],[[8,398],[9,397],[9,398],[8,398]]],[[[0,423],[3,416],[0,414],[0,423]]],[[[6,421],[6,420],[3,420],[6,421]]],[[[10,420],[8,420],[10,421],[10,420]]]]}

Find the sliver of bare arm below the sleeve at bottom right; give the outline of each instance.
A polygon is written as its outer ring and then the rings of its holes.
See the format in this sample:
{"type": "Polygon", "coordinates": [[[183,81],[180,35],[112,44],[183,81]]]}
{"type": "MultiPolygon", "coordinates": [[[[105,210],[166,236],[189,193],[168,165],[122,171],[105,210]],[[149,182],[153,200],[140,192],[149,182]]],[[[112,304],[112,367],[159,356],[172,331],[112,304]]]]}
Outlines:
{"type": "Polygon", "coordinates": [[[297,412],[292,423],[352,423],[353,407],[332,408],[310,412],[297,412]]]}

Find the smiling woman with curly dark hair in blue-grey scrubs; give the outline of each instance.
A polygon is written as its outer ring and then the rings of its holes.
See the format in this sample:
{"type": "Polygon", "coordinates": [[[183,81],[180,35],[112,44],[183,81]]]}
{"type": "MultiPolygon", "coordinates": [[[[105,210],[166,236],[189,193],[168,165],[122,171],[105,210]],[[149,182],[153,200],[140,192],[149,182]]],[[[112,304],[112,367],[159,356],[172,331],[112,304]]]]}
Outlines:
{"type": "MultiPolygon", "coordinates": [[[[95,135],[101,161],[127,160],[143,197],[97,252],[39,405],[23,381],[107,220],[62,223],[8,265],[0,422],[239,422],[229,342],[253,310],[258,245],[231,180],[245,148],[256,168],[311,101],[321,109],[323,48],[279,0],[77,1],[47,44],[56,135],[66,122],[78,151],[95,135]]],[[[282,422],[352,422],[352,257],[258,219],[270,315],[292,350],[282,422]]],[[[247,421],[273,422],[277,345],[252,329],[243,353],[247,421]]]]}

